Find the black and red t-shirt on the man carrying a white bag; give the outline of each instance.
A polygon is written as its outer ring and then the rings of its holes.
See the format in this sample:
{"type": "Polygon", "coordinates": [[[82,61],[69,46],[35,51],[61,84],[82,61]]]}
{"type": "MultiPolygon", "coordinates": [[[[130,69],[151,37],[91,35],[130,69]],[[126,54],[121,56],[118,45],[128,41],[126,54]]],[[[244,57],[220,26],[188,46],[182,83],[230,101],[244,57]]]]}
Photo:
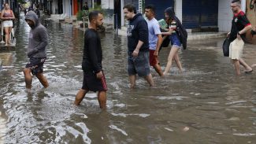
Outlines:
{"type": "MultiPolygon", "coordinates": [[[[230,32],[230,39],[231,41],[236,39],[237,32],[243,30],[243,28],[250,25],[250,21],[247,19],[247,16],[243,11],[239,13],[235,13],[233,20],[232,20],[232,28],[230,32]]],[[[242,39],[245,39],[245,34],[241,35],[242,39]]]]}

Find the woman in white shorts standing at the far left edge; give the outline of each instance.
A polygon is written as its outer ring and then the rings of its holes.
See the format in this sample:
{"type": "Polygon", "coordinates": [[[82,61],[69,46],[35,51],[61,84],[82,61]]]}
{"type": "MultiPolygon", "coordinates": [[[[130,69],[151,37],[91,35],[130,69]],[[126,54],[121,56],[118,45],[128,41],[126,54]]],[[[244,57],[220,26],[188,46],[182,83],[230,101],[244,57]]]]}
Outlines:
{"type": "Polygon", "coordinates": [[[13,28],[13,20],[15,19],[13,10],[9,9],[9,4],[5,3],[5,9],[2,9],[1,19],[6,32],[6,46],[10,44],[10,33],[13,28]]]}

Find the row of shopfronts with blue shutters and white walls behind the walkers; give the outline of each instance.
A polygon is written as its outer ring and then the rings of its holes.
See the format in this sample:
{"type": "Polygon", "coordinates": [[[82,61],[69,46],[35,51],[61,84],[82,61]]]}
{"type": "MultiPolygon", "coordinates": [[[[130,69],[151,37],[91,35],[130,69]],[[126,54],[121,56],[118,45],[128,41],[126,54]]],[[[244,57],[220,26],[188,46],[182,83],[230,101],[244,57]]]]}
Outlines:
{"type": "MultiPolygon", "coordinates": [[[[173,6],[176,16],[188,31],[230,31],[232,0],[40,0],[50,13],[65,13],[71,17],[83,9],[85,2],[89,8],[101,6],[105,13],[106,24],[117,24],[124,27],[128,22],[124,19],[123,7],[127,4],[135,6],[138,13],[143,13],[144,7],[154,5],[156,18],[164,19],[164,10],[173,6]],[[117,21],[117,22],[115,22],[117,21]]],[[[242,9],[246,10],[246,0],[241,0],[242,9]]]]}

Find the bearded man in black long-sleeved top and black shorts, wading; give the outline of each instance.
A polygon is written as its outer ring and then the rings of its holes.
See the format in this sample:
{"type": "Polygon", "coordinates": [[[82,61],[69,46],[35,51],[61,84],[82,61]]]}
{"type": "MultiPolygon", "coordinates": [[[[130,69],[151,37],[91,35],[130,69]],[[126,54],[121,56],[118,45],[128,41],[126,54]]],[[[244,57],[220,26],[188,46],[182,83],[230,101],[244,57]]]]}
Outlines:
{"type": "Polygon", "coordinates": [[[84,33],[83,87],[76,94],[75,105],[80,105],[89,90],[98,91],[98,103],[106,109],[106,79],[102,72],[102,46],[96,29],[102,25],[103,16],[98,11],[89,13],[90,24],[84,33]]]}

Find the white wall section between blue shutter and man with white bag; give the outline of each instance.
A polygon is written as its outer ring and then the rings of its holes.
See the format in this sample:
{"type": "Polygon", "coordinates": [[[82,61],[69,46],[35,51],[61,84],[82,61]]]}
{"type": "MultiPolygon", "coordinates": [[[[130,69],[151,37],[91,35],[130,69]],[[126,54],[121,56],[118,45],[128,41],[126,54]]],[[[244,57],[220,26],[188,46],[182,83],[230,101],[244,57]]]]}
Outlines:
{"type": "Polygon", "coordinates": [[[232,0],[219,0],[218,28],[219,31],[230,31],[232,26],[233,13],[230,9],[232,0]]]}

